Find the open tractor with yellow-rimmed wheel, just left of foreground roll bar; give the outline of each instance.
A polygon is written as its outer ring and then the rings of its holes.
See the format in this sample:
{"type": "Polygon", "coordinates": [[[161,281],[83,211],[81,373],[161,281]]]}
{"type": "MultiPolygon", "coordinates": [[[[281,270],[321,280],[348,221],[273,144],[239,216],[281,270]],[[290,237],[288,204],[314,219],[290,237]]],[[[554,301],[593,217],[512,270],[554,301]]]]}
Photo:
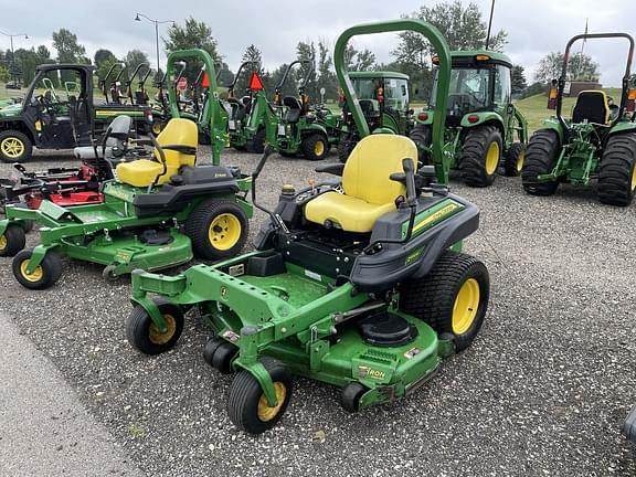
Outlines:
{"type": "Polygon", "coordinates": [[[287,66],[274,94],[274,108],[278,124],[275,147],[282,156],[301,153],[309,160],[327,157],[338,137],[329,134],[328,125],[315,112],[310,112],[307,82],[314,74],[314,60],[296,60],[287,66]],[[300,65],[304,77],[299,82],[298,97],[283,96],[285,82],[290,77],[294,66],[300,65]]]}

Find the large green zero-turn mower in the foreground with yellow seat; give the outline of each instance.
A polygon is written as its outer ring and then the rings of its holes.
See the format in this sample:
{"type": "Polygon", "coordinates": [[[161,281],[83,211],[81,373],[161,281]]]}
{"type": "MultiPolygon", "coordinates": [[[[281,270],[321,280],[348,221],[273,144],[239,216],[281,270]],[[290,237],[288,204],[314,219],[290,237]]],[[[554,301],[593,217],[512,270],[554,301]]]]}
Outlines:
{"type": "Polygon", "coordinates": [[[248,433],[280,418],[292,374],[342,388],[342,405],[353,412],[414,392],[481,327],[488,271],[459,252],[479,212],[445,186],[444,38],[421,20],[361,24],[338,39],[336,64],[352,36],[403,30],[425,35],[439,55],[434,166],[415,170],[410,138],[369,135],[349,74],[338,67],[364,137],[346,165],[320,169],[337,178],[299,191],[284,187],[256,252],[177,276],[132,273],[135,308],[126,319],[132,347],[148,354],[170,349],[183,310],[197,307],[214,332],[204,358],[222,373],[236,372],[227,411],[248,433]]]}

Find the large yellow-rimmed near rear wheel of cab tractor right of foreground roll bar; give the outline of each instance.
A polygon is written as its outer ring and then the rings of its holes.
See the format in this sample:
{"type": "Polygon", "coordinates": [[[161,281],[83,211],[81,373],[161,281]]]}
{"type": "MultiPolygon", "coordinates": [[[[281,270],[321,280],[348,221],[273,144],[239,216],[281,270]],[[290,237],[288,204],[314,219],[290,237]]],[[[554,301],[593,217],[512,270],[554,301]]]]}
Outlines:
{"type": "Polygon", "coordinates": [[[459,171],[468,187],[491,186],[501,162],[501,132],[495,126],[476,126],[464,138],[459,171]]]}

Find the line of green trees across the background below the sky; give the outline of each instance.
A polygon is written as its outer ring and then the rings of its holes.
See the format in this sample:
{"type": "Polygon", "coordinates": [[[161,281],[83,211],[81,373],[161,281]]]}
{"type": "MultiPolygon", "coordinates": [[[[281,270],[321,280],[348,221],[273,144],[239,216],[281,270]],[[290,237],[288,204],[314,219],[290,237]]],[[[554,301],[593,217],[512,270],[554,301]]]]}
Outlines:
{"type": "MultiPolygon", "coordinates": [[[[446,38],[451,50],[479,50],[486,43],[487,24],[476,3],[469,2],[465,6],[460,0],[443,2],[433,7],[423,6],[417,11],[403,15],[405,18],[425,19],[434,24],[446,38]]],[[[489,39],[489,50],[502,52],[507,40],[507,32],[499,30],[489,39]]],[[[224,56],[219,51],[218,42],[213,36],[212,28],[203,21],[189,18],[181,24],[173,24],[167,30],[162,38],[163,50],[170,53],[177,50],[199,47],[205,50],[221,66],[219,84],[229,85],[233,77],[232,72],[225,62],[224,56]]],[[[34,76],[35,66],[43,63],[85,63],[94,64],[99,78],[103,78],[115,63],[126,63],[127,72],[132,72],[139,64],[151,62],[146,53],[139,50],[129,51],[125,57],[117,59],[107,50],[97,50],[94,56],[87,57],[85,47],[78,43],[77,36],[67,29],[61,29],[53,33],[53,47],[57,52],[53,59],[45,45],[31,49],[15,50],[14,57],[11,51],[0,52],[0,81],[8,81],[11,76],[12,67],[15,65],[17,73],[22,83],[30,83],[34,76]]],[[[310,60],[315,62],[315,70],[308,72],[305,67],[295,68],[286,84],[283,86],[284,95],[295,94],[297,82],[309,74],[307,81],[308,94],[317,99],[320,97],[320,88],[326,89],[326,99],[338,97],[338,81],[333,68],[332,45],[324,38],[307,39],[299,41],[296,45],[296,57],[294,60],[310,60]]],[[[353,45],[348,45],[346,51],[346,64],[349,71],[383,70],[405,73],[411,77],[412,98],[415,100],[426,100],[431,95],[433,83],[433,71],[431,57],[434,54],[431,44],[420,34],[403,32],[399,34],[396,47],[391,52],[391,61],[381,63],[373,52],[368,49],[358,50],[353,45]]],[[[246,47],[242,61],[252,61],[258,65],[267,92],[273,92],[279,83],[287,64],[282,64],[273,71],[263,67],[263,56],[257,45],[251,44],[246,47]]],[[[523,67],[515,65],[512,68],[512,92],[517,95],[537,94],[545,89],[550,80],[560,74],[563,54],[552,52],[545,55],[539,63],[534,76],[534,83],[528,85],[523,67]]],[[[140,75],[147,73],[147,67],[140,68],[140,75]]],[[[190,64],[186,71],[186,76],[192,82],[201,65],[190,64]]],[[[240,78],[235,88],[236,94],[241,94],[246,87],[251,72],[245,72],[240,78]]],[[[153,78],[160,78],[162,71],[155,71],[153,78]]],[[[570,78],[597,80],[598,65],[582,52],[572,55],[568,74],[570,78]]],[[[125,75],[123,81],[128,80],[125,75]]]]}

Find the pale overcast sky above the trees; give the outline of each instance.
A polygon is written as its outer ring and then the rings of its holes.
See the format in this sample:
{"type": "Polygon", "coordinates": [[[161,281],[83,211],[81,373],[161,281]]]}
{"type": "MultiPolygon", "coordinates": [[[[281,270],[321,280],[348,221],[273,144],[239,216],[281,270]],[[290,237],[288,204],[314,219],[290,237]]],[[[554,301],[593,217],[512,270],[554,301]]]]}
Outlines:
{"type": "MultiPolygon", "coordinates": [[[[490,0],[474,0],[488,18],[490,0]]],[[[93,56],[100,47],[124,56],[131,49],[146,52],[155,66],[155,25],[134,21],[136,11],[157,20],[182,23],[190,15],[212,28],[219,50],[235,70],[251,43],[263,53],[265,67],[273,70],[295,56],[299,40],[326,39],[333,45],[338,34],[356,23],[391,20],[411,13],[420,6],[439,0],[261,0],[261,1],[163,1],[163,0],[0,0],[0,31],[28,33],[29,40],[14,39],[14,47],[46,44],[51,34],[67,28],[93,56]],[[52,6],[55,8],[52,8],[52,6]]],[[[526,67],[529,82],[539,60],[551,51],[562,51],[566,41],[582,33],[585,19],[590,32],[623,31],[636,36],[636,0],[496,0],[492,30],[508,32],[506,53],[526,67]]],[[[464,4],[468,4],[465,0],[464,4]]],[[[160,25],[160,35],[167,24],[160,25]]],[[[381,62],[391,60],[394,35],[373,35],[358,41],[381,62]]],[[[0,49],[9,39],[0,35],[0,49]]],[[[160,47],[162,42],[160,40],[160,47]]],[[[576,49],[576,51],[579,47],[576,49]]],[[[625,67],[627,43],[616,40],[587,42],[585,52],[601,64],[602,83],[618,85],[625,67]]],[[[55,54],[54,51],[52,51],[55,54]]],[[[162,55],[161,62],[165,62],[162,55]]]]}

